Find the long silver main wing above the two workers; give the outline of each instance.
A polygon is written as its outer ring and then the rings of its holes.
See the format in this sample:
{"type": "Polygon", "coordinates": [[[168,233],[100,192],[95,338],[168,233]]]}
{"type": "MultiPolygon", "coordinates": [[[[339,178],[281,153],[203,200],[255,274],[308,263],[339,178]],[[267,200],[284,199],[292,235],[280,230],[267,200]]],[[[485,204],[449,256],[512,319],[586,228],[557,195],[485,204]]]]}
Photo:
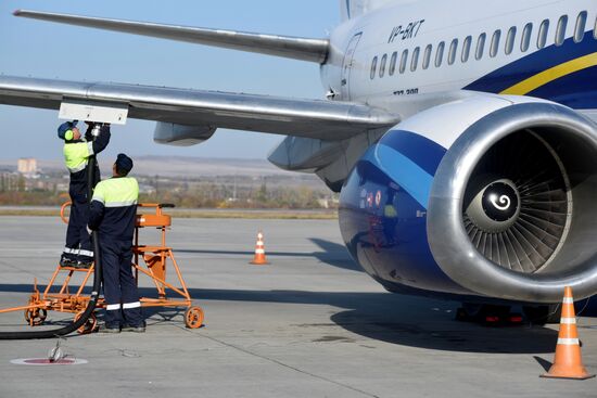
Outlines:
{"type": "Polygon", "coordinates": [[[65,100],[124,105],[137,119],[331,141],[399,121],[365,104],[0,75],[0,104],[59,110],[65,100]]]}

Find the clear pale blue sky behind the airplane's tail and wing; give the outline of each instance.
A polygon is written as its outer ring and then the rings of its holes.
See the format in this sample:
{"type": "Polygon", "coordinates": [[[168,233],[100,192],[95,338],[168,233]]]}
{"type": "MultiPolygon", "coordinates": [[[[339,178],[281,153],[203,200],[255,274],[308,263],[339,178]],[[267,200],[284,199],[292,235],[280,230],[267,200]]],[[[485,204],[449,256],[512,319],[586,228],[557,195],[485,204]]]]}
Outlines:
{"type": "MultiPolygon", "coordinates": [[[[14,17],[16,9],[123,20],[326,37],[338,0],[21,0],[0,2],[0,73],[181,88],[321,98],[318,65],[301,61],[14,17]]],[[[58,112],[0,105],[0,158],[58,159],[58,112]]],[[[207,142],[153,142],[154,123],[113,128],[107,155],[265,158],[280,136],[218,130],[207,142]]]]}

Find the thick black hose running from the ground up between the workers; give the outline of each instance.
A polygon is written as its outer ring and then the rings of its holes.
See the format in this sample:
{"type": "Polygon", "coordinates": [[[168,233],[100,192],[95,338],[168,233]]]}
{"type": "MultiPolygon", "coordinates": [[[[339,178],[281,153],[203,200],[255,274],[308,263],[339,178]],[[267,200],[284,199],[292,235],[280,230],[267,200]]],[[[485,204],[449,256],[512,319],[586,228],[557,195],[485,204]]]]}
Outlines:
{"type": "MultiPolygon", "coordinates": [[[[87,202],[91,203],[91,197],[93,196],[93,188],[96,187],[96,156],[89,156],[87,163],[87,202]]],[[[93,231],[91,233],[91,240],[93,241],[93,257],[94,257],[94,268],[93,268],[93,287],[91,290],[91,295],[89,296],[89,303],[82,314],[76,321],[73,320],[66,326],[53,330],[46,331],[35,331],[35,332],[1,332],[0,339],[34,339],[34,338],[54,338],[58,336],[64,336],[69,333],[73,333],[80,326],[82,326],[89,317],[93,313],[96,306],[98,305],[98,299],[100,297],[100,287],[102,281],[102,261],[100,255],[100,239],[98,232],[93,231]]]]}

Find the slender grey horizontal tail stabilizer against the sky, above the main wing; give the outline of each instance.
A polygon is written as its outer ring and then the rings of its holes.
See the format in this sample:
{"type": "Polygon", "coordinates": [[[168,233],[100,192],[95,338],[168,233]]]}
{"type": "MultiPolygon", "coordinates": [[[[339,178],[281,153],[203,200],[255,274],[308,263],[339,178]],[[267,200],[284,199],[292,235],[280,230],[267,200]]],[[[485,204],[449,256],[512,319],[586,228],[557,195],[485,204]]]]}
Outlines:
{"type": "Polygon", "coordinates": [[[237,30],[207,29],[27,10],[17,10],[14,12],[14,15],[61,24],[223,47],[232,50],[316,62],[319,64],[326,61],[329,49],[329,41],[327,39],[263,35],[237,30]]]}

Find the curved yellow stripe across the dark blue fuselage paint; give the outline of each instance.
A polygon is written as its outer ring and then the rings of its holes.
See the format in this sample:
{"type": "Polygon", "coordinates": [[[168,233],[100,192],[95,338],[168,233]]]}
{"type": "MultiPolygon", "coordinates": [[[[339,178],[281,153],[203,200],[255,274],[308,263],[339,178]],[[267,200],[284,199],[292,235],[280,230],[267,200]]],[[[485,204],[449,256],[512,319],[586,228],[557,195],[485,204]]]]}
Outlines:
{"type": "Polygon", "coordinates": [[[501,91],[500,94],[524,95],[544,85],[547,85],[550,81],[559,79],[562,76],[567,76],[574,72],[586,69],[587,67],[595,65],[597,65],[597,52],[550,67],[547,70],[522,80],[518,85],[507,88],[501,91]]]}

